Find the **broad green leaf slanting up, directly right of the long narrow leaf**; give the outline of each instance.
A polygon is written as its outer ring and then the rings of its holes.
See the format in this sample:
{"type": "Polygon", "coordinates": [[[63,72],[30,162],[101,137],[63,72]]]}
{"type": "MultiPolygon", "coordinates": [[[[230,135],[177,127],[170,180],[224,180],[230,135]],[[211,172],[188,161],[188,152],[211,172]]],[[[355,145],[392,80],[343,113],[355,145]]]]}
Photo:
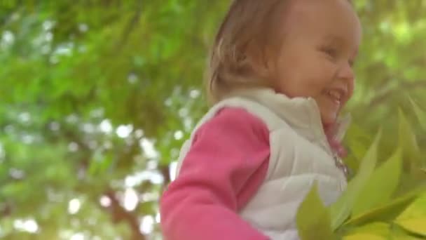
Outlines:
{"type": "Polygon", "coordinates": [[[353,215],[359,215],[390,200],[399,184],[401,160],[401,149],[397,149],[390,159],[374,171],[369,184],[365,185],[355,201],[353,215]]]}

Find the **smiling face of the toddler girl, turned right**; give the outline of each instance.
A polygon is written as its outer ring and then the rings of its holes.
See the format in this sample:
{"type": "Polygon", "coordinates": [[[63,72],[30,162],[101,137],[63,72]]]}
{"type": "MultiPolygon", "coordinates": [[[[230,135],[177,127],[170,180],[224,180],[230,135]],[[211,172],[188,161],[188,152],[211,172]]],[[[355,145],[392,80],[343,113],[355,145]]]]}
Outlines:
{"type": "Polygon", "coordinates": [[[352,96],[361,26],[348,0],[296,0],[283,19],[275,90],[312,97],[324,125],[334,124],[352,96]]]}

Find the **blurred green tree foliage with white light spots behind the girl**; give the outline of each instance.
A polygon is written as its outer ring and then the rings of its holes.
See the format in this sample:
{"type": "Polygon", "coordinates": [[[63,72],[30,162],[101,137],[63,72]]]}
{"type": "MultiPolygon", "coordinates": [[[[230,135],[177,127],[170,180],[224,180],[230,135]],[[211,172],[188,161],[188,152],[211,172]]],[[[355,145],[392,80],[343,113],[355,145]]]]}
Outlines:
{"type": "MultiPolygon", "coordinates": [[[[0,239],[162,239],[158,199],[207,109],[229,0],[0,0],[0,239]]],[[[426,1],[358,0],[348,164],[426,102],[426,1]]],[[[426,109],[426,108],[425,108],[426,109]]]]}

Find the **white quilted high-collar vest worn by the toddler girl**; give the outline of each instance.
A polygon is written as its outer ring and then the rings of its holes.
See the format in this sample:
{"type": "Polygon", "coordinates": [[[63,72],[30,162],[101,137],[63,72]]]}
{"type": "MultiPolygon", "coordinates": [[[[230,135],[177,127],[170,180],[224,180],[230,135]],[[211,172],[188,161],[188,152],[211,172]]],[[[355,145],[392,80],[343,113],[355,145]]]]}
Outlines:
{"type": "MultiPolygon", "coordinates": [[[[343,171],[336,167],[334,154],[311,98],[287,98],[268,89],[240,91],[219,102],[205,114],[195,131],[224,107],[240,107],[263,121],[270,132],[270,159],[263,184],[240,211],[240,216],[270,239],[299,239],[296,212],[317,180],[324,204],[336,201],[346,187],[343,171]]],[[[348,121],[342,121],[336,138],[343,138],[348,121]]],[[[184,143],[177,174],[191,139],[184,143]]]]}

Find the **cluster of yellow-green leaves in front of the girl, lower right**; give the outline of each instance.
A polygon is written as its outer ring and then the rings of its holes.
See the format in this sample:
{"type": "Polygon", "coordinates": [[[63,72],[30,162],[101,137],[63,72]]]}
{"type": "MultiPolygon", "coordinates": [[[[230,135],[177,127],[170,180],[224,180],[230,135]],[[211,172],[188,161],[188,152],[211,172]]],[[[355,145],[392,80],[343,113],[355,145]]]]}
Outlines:
{"type": "Polygon", "coordinates": [[[334,204],[324,206],[317,186],[312,187],[297,213],[301,240],[426,239],[426,161],[404,114],[399,122],[398,138],[408,144],[376,166],[380,130],[334,204]]]}

